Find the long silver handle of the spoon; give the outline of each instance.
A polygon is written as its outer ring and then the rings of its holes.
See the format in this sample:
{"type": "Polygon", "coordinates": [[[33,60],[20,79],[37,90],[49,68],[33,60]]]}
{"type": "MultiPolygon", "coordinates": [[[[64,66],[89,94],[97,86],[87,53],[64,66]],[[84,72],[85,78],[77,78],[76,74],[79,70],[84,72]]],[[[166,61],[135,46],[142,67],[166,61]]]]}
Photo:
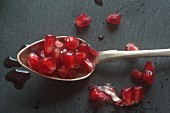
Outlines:
{"type": "Polygon", "coordinates": [[[170,49],[138,50],[138,51],[117,51],[107,50],[99,52],[97,63],[112,62],[119,59],[137,57],[168,57],[170,49]]]}

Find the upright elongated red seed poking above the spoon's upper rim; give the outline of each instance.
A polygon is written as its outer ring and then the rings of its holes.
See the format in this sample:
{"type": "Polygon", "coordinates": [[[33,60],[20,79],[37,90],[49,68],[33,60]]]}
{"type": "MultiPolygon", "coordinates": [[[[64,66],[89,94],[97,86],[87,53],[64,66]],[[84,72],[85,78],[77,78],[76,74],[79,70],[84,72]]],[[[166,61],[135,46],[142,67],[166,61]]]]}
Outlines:
{"type": "Polygon", "coordinates": [[[46,34],[45,35],[45,40],[44,40],[44,51],[46,53],[51,53],[54,50],[55,47],[55,41],[56,37],[46,34]]]}

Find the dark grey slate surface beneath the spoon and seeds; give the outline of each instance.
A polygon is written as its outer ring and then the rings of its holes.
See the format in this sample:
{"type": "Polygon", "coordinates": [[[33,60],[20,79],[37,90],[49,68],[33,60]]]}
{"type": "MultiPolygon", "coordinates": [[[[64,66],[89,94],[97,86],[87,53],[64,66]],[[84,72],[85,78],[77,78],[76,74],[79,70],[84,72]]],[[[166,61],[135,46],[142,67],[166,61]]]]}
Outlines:
{"type": "Polygon", "coordinates": [[[169,113],[170,58],[152,58],[157,74],[143,101],[132,107],[96,105],[88,101],[88,85],[112,83],[116,90],[135,85],[129,76],[142,69],[147,58],[120,60],[97,66],[86,80],[57,82],[34,73],[22,90],[5,80],[2,61],[16,56],[20,46],[42,39],[45,33],[74,35],[97,50],[122,50],[127,42],[141,49],[170,47],[169,0],[0,0],[0,113],[169,113]],[[117,29],[105,24],[106,16],[122,6],[117,29]],[[74,18],[86,12],[93,19],[89,27],[77,29],[74,18]],[[104,36],[103,41],[96,37],[104,36]]]}

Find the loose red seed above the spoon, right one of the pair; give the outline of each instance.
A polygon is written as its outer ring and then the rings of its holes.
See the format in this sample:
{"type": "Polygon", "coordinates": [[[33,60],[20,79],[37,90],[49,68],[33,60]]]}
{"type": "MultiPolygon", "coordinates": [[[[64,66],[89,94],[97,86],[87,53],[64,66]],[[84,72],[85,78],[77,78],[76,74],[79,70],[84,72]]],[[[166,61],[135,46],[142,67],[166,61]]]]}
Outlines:
{"type": "Polygon", "coordinates": [[[118,25],[120,24],[121,18],[122,16],[119,13],[114,12],[107,17],[106,22],[111,23],[113,25],[118,25]]]}

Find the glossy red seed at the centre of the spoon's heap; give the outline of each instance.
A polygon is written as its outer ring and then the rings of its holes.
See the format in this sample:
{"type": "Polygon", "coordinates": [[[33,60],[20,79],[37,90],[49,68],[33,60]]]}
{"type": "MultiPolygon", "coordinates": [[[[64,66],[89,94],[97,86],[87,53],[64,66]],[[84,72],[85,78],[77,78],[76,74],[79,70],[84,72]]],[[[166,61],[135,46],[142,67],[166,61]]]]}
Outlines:
{"type": "Polygon", "coordinates": [[[61,54],[63,64],[68,68],[75,68],[77,65],[75,53],[73,51],[67,51],[61,54]]]}

